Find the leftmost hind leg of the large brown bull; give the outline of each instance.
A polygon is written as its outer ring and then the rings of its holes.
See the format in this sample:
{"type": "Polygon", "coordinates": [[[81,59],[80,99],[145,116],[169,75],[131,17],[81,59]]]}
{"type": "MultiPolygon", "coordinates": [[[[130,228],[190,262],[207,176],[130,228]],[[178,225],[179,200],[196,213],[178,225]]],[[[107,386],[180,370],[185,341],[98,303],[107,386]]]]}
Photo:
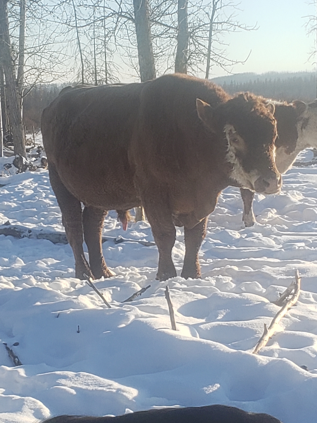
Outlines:
{"type": "Polygon", "coordinates": [[[65,227],[66,236],[75,257],[75,277],[86,279],[84,274],[93,277],[89,265],[85,259],[82,248],[82,206],[79,200],[74,197],[63,185],[54,165],[49,163],[49,180],[56,195],[57,203],[62,212],[62,222],[65,227]]]}

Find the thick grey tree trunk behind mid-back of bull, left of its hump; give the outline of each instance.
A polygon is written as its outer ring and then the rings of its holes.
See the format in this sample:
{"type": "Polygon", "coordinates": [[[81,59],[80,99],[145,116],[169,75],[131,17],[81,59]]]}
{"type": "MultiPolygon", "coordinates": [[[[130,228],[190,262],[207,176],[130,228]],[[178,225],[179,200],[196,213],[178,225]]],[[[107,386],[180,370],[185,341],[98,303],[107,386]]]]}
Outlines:
{"type": "Polygon", "coordinates": [[[156,78],[148,0],[133,0],[141,82],[156,78]]]}

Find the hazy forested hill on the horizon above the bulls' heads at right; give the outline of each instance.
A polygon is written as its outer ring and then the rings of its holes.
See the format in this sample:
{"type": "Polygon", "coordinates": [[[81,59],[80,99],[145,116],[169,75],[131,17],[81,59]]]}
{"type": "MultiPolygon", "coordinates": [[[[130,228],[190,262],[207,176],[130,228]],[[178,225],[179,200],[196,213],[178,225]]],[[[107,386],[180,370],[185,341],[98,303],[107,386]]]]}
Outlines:
{"type": "Polygon", "coordinates": [[[316,98],[316,76],[314,74],[308,74],[306,77],[292,76],[286,78],[283,74],[283,77],[283,79],[276,77],[265,78],[264,80],[256,78],[248,82],[231,80],[230,82],[221,82],[219,85],[229,94],[250,91],[263,97],[286,100],[287,102],[295,99],[312,102],[316,98]]]}

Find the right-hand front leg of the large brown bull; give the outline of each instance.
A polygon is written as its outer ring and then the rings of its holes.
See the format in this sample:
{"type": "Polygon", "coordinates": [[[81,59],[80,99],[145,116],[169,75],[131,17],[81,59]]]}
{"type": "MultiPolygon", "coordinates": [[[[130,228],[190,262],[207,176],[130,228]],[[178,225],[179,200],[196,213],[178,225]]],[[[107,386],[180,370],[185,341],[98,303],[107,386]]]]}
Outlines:
{"type": "Polygon", "coordinates": [[[205,217],[194,228],[184,228],[185,235],[185,257],[181,276],[185,279],[200,277],[200,264],[198,252],[202,241],[206,236],[208,217],[205,217]]]}

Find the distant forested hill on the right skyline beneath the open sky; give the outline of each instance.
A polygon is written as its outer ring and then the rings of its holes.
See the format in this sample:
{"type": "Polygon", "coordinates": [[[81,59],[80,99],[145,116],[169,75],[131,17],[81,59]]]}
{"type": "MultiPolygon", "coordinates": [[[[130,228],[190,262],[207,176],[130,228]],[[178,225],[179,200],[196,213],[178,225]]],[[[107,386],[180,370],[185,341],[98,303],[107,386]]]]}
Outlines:
{"type": "Polygon", "coordinates": [[[298,99],[311,102],[316,98],[316,74],[314,72],[265,74],[243,73],[212,79],[230,94],[250,91],[264,97],[291,102],[298,99]]]}

